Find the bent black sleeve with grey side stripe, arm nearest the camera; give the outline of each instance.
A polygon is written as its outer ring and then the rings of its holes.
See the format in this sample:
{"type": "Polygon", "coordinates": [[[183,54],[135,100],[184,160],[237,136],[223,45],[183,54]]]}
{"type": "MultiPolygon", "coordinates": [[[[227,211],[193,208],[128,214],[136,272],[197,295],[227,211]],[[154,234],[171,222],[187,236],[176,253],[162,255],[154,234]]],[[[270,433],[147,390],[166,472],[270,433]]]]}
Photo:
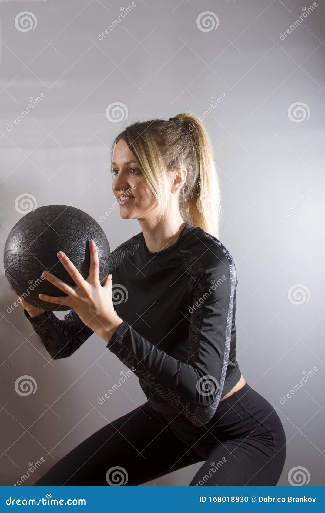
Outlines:
{"type": "Polygon", "coordinates": [[[235,265],[228,253],[213,259],[213,264],[194,282],[186,362],[159,350],[126,321],[107,344],[119,360],[133,367],[138,378],[195,426],[211,420],[221,398],[230,351],[236,283],[235,265]]]}

